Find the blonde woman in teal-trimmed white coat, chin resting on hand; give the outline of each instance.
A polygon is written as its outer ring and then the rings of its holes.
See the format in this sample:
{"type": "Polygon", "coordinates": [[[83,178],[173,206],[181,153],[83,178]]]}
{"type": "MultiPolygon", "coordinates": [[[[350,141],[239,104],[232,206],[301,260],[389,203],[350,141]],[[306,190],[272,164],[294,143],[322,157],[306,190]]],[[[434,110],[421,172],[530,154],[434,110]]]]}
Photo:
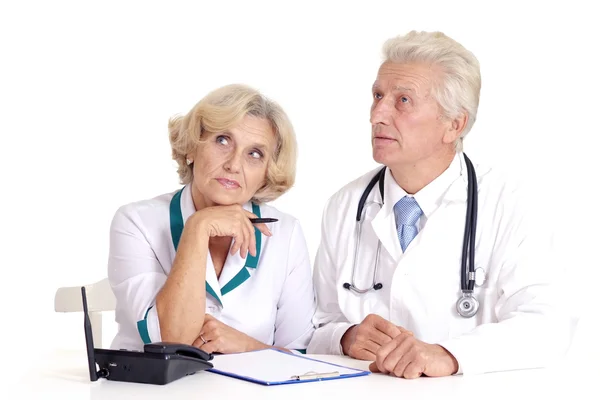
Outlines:
{"type": "Polygon", "coordinates": [[[169,137],[184,186],[120,207],[111,225],[112,347],[304,352],[315,311],[307,245],[293,216],[265,204],[295,179],[288,117],[256,90],[229,85],[171,119],[169,137]]]}

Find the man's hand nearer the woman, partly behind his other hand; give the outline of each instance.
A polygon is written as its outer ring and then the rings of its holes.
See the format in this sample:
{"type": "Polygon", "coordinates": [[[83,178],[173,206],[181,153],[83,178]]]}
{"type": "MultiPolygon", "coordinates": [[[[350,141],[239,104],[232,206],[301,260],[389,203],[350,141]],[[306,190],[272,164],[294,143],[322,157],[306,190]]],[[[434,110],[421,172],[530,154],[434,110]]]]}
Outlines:
{"type": "Polygon", "coordinates": [[[342,351],[358,360],[375,361],[377,350],[401,333],[412,332],[392,324],[376,314],[369,314],[342,336],[342,351]]]}

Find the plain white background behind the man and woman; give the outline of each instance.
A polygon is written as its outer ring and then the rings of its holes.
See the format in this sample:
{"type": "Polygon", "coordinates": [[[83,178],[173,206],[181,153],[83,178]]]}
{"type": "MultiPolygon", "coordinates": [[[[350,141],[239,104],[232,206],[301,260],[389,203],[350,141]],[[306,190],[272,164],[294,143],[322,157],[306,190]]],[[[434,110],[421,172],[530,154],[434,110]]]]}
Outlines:
{"type": "Polygon", "coordinates": [[[252,85],[289,113],[297,181],[274,205],[300,219],[314,257],[326,199],[376,166],[370,86],[382,43],[411,29],[443,31],[478,57],[466,152],[528,183],[556,229],[565,299],[593,337],[600,30],[586,4],[2,2],[0,343],[83,348],[81,314],[55,313],[55,290],[106,276],[115,210],[179,187],[168,118],[224,84],[252,85]]]}

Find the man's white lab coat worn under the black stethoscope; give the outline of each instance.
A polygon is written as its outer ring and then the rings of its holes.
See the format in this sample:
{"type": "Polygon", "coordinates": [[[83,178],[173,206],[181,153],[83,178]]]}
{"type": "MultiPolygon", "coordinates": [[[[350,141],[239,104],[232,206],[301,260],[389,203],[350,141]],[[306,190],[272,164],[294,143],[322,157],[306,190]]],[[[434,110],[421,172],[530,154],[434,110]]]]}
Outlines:
{"type": "MultiPolygon", "coordinates": [[[[381,210],[368,209],[355,278],[361,289],[372,285],[380,240],[377,282],[383,288],[362,295],[343,288],[351,282],[358,201],[378,167],[345,185],[325,206],[313,270],[317,330],[309,353],[341,354],[344,332],[369,314],[442,345],[455,356],[462,374],[544,366],[566,350],[570,320],[556,307],[557,269],[550,241],[530,225],[520,189],[497,171],[473,163],[479,189],[475,267],[486,276],[474,290],[478,314],[467,319],[456,311],[467,200],[462,153],[424,189],[437,194],[431,198],[429,193],[428,215],[404,254],[393,205],[401,197],[394,196],[405,192],[387,170],[385,203],[381,210]]],[[[368,199],[381,202],[378,185],[368,199]]]]}

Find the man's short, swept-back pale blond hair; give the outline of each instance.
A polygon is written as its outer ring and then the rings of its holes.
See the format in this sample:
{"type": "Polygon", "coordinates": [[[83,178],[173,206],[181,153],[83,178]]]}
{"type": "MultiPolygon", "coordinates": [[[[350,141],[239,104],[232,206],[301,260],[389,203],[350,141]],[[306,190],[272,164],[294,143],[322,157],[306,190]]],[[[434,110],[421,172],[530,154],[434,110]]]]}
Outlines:
{"type": "Polygon", "coordinates": [[[467,114],[467,124],[455,143],[456,150],[462,151],[463,139],[477,118],[481,91],[479,61],[473,53],[442,32],[417,31],[387,40],[383,53],[384,62],[425,63],[442,69],[441,82],[431,95],[446,117],[467,114]]]}

